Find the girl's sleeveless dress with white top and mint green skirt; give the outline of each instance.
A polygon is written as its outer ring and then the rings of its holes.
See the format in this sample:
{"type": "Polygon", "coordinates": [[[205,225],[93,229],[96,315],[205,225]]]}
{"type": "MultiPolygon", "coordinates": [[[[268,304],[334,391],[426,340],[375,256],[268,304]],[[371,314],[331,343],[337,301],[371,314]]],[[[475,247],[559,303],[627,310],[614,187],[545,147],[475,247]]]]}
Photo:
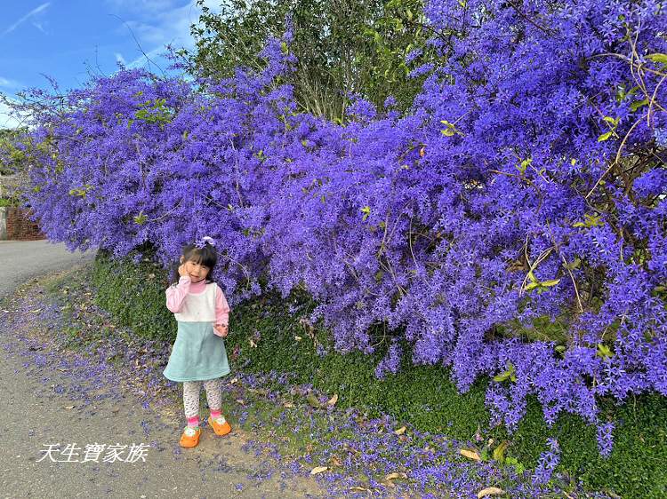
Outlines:
{"type": "Polygon", "coordinates": [[[222,337],[213,333],[216,284],[205,291],[189,293],[183,300],[176,341],[172,347],[165,377],[171,381],[205,381],[229,374],[229,361],[222,337]]]}

